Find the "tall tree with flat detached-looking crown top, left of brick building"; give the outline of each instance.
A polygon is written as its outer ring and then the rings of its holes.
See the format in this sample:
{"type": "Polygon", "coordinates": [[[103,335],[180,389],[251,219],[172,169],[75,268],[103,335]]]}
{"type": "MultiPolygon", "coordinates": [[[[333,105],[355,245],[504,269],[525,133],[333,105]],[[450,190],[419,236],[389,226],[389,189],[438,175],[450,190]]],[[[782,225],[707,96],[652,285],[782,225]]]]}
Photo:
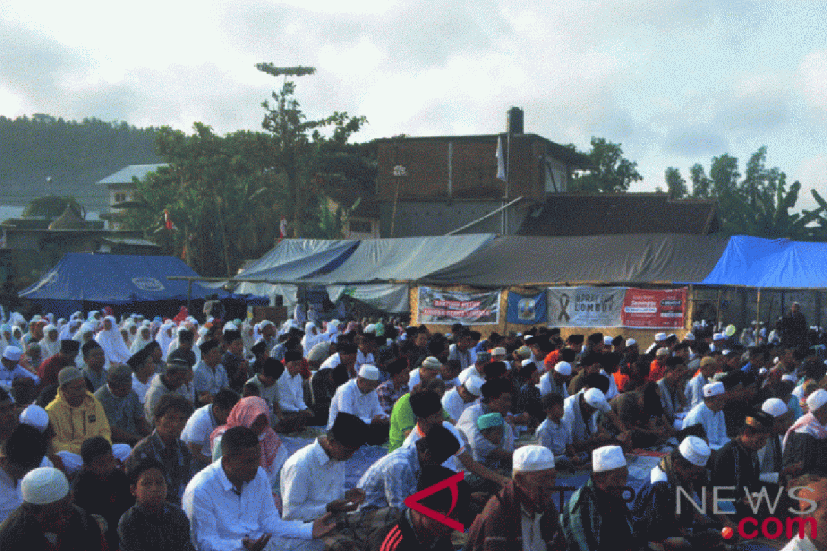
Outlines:
{"type": "Polygon", "coordinates": [[[289,77],[314,74],[313,67],[276,67],[271,63],[256,64],[256,69],[274,77],[283,77],[279,91],[271,94],[272,102],[265,101],[261,126],[273,137],[270,145],[270,163],[276,173],[284,176],[287,205],[294,237],[303,235],[303,227],[318,198],[324,194],[328,181],[319,174],[326,159],[342,154],[347,140],[359,131],[367,120],[364,116],[348,116],[347,112],[333,112],[322,119],[308,121],[298,100],[294,97],[295,83],[289,77]],[[327,135],[321,130],[326,130],[327,135]]]}

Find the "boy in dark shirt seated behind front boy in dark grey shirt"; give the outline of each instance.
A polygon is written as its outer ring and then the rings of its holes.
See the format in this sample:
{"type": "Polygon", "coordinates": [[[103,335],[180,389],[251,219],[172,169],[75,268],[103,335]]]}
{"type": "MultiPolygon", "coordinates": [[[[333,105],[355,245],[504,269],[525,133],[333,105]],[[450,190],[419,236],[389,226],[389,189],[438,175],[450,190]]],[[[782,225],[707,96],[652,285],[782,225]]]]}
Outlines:
{"type": "Polygon", "coordinates": [[[127,475],[116,468],[112,444],[103,436],[85,440],[80,446],[80,457],[84,465],[74,479],[72,501],[107,521],[105,535],[109,549],[117,549],[117,521],[135,503],[127,475]]]}

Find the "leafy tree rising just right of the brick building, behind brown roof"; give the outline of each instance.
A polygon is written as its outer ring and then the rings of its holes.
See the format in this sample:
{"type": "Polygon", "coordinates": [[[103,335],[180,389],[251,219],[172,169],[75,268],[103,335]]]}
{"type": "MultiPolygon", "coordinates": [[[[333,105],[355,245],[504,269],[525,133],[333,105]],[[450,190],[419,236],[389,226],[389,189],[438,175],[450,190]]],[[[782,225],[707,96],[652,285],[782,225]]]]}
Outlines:
{"type": "Polygon", "coordinates": [[[643,180],[638,173],[638,163],[625,159],[620,145],[592,136],[591,151],[586,155],[595,168],[571,178],[570,190],[584,193],[625,192],[630,183],[643,180]]]}

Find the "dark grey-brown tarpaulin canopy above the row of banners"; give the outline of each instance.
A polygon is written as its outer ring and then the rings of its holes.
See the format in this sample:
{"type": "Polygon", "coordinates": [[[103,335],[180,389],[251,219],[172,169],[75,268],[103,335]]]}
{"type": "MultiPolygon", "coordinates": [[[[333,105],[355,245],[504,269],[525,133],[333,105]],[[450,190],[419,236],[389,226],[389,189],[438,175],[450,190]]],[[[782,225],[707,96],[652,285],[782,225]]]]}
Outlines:
{"type": "Polygon", "coordinates": [[[423,283],[502,287],[700,281],[715,268],[728,241],[716,235],[682,234],[504,235],[431,273],[423,283]]]}

